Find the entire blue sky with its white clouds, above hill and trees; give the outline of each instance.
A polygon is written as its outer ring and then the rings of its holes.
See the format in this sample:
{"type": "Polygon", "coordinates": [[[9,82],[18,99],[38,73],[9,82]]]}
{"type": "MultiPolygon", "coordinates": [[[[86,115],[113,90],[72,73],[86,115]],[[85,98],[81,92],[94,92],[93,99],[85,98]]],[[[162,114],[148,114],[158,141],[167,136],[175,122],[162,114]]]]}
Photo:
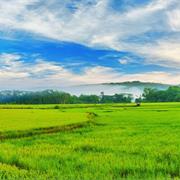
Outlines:
{"type": "Polygon", "coordinates": [[[1,0],[1,89],[180,84],[179,0],[1,0]]]}

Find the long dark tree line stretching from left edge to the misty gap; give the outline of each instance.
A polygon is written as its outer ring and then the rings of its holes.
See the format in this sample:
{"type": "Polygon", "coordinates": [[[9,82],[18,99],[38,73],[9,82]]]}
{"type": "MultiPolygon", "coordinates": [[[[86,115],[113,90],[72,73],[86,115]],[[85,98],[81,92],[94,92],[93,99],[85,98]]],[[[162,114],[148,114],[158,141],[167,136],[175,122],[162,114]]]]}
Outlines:
{"type": "Polygon", "coordinates": [[[75,96],[66,92],[45,90],[29,91],[1,91],[1,104],[98,104],[98,103],[130,103],[130,94],[114,95],[80,95],[75,96]]]}

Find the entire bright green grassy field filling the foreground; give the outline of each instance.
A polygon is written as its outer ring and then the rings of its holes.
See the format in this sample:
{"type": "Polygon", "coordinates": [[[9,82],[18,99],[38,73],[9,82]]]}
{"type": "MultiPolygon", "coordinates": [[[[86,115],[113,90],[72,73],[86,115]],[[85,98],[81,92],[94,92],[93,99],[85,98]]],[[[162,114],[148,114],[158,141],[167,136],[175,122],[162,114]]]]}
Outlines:
{"type": "Polygon", "coordinates": [[[54,107],[0,107],[1,135],[83,124],[1,140],[0,179],[180,178],[180,103],[54,107]]]}

